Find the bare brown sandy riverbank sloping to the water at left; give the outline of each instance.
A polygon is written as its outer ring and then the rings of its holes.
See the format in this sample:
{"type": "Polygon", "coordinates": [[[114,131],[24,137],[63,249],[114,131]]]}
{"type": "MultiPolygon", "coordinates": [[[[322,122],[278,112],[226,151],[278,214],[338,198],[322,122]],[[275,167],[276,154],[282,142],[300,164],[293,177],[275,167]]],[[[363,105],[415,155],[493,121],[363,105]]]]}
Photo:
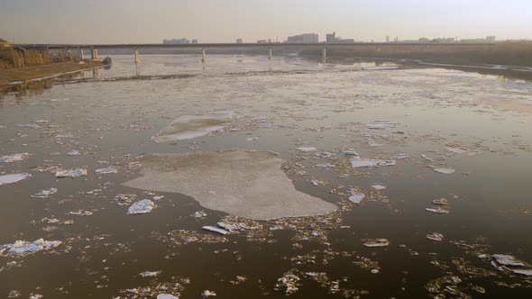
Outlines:
{"type": "Polygon", "coordinates": [[[102,66],[103,63],[99,61],[83,61],[83,63],[68,61],[23,68],[0,68],[0,90],[12,86],[14,82],[25,82],[42,77],[54,77],[69,72],[102,66]]]}

